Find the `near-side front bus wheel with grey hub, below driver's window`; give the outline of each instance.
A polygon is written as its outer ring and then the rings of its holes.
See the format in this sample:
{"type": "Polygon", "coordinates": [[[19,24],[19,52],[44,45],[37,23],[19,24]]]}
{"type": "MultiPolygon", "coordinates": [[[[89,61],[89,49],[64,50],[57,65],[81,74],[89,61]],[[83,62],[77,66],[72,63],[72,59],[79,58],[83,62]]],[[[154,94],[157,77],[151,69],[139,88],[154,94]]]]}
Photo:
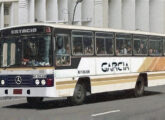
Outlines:
{"type": "Polygon", "coordinates": [[[71,103],[73,105],[80,105],[85,101],[85,99],[86,99],[85,85],[82,83],[78,83],[74,90],[73,96],[70,98],[71,103]]]}

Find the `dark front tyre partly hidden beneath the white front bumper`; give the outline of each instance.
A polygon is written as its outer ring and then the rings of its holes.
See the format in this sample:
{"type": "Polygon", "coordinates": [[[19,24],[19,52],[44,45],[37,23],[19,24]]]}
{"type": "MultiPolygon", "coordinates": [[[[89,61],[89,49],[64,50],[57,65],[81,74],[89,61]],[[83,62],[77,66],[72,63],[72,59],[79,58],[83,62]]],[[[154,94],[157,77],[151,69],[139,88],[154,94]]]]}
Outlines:
{"type": "Polygon", "coordinates": [[[27,97],[27,102],[31,105],[39,105],[42,101],[43,97],[27,97]]]}

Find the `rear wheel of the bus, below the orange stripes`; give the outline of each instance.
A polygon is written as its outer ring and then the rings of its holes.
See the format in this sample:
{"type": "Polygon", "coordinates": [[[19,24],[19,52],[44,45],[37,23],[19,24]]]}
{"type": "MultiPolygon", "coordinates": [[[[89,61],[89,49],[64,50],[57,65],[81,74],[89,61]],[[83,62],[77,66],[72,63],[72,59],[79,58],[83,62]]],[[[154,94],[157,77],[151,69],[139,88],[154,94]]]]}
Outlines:
{"type": "Polygon", "coordinates": [[[135,93],[135,97],[141,97],[144,94],[144,79],[143,77],[140,78],[139,81],[137,81],[135,89],[134,89],[134,93],[135,93]]]}

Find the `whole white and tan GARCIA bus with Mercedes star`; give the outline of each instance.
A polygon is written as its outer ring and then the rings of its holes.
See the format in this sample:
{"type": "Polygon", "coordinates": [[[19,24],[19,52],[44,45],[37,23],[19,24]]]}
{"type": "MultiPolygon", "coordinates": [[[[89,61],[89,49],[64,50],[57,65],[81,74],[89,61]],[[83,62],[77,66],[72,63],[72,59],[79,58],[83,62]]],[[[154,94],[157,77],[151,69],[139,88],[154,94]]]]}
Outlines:
{"type": "Polygon", "coordinates": [[[165,84],[165,35],[35,23],[0,30],[0,96],[67,97],[165,84]]]}

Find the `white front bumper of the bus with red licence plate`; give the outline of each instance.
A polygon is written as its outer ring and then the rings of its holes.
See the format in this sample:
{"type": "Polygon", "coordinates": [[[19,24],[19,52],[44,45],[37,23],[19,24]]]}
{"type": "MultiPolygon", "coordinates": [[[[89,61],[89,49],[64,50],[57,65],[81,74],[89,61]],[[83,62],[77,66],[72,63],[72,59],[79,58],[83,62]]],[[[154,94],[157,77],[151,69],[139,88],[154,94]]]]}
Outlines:
{"type": "Polygon", "coordinates": [[[0,88],[0,97],[20,96],[20,97],[57,97],[55,87],[40,88],[0,88]],[[14,94],[14,90],[20,90],[21,93],[14,94]]]}

